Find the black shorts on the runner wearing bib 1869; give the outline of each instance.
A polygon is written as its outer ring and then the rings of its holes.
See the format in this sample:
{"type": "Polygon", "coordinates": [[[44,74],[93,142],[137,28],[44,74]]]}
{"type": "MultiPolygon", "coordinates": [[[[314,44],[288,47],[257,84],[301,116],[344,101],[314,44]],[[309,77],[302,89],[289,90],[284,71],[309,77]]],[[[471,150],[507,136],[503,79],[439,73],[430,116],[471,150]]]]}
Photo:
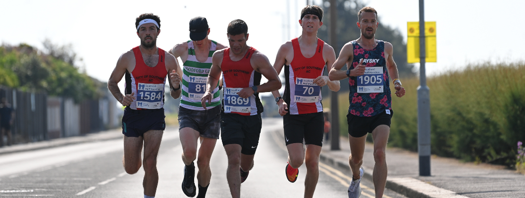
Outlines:
{"type": "Polygon", "coordinates": [[[240,153],[253,155],[259,144],[262,120],[260,114],[242,116],[237,113],[220,114],[220,139],[223,145],[239,144],[240,153]]]}

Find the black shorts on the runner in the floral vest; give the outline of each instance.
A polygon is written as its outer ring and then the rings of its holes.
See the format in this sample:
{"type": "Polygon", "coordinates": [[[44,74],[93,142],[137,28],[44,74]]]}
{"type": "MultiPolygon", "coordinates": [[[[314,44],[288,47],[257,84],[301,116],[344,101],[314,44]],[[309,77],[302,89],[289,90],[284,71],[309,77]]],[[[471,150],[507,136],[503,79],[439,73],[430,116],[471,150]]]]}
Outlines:
{"type": "Polygon", "coordinates": [[[371,117],[355,116],[349,112],[346,114],[348,134],[354,138],[360,138],[366,136],[367,133],[372,133],[380,125],[390,127],[390,120],[393,114],[394,111],[388,109],[371,117]]]}

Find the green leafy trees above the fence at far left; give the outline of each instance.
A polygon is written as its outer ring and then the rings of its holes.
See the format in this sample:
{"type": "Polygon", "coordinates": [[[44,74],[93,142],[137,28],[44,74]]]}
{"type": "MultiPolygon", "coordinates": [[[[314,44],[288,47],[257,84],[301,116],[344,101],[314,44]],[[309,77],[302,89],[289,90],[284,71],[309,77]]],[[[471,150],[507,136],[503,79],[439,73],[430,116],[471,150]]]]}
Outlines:
{"type": "Polygon", "coordinates": [[[29,91],[45,91],[51,96],[75,102],[101,96],[98,80],[75,67],[77,54],[71,45],[58,46],[44,41],[47,53],[27,44],[0,46],[0,85],[29,91]]]}

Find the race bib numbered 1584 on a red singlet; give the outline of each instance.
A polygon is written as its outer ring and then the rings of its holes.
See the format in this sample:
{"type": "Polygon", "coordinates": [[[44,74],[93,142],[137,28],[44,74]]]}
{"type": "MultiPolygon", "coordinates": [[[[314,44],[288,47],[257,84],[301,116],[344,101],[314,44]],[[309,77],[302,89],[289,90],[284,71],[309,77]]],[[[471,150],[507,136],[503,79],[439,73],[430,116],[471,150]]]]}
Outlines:
{"type": "Polygon", "coordinates": [[[162,107],[164,84],[139,83],[137,88],[137,108],[160,109],[162,107]]]}

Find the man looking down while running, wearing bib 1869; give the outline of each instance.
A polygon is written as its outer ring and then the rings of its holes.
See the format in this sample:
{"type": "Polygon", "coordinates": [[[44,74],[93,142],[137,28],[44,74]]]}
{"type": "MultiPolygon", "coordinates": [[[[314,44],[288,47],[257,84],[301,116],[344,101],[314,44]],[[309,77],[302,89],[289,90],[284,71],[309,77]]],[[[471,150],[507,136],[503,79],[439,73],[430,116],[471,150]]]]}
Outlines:
{"type": "Polygon", "coordinates": [[[248,26],[236,19],[228,24],[229,48],[218,50],[212,57],[212,68],[202,97],[202,107],[213,102],[213,89],[223,72],[223,108],[220,113],[221,139],[228,155],[226,179],[233,198],[240,197],[240,183],[254,166],[254,155],[262,127],[260,92],[281,87],[277,72],[268,58],[246,45],[248,26]],[[261,74],[268,79],[260,84],[261,74]],[[239,169],[240,167],[240,169],[239,169]],[[239,174],[240,172],[240,174],[239,174]]]}

